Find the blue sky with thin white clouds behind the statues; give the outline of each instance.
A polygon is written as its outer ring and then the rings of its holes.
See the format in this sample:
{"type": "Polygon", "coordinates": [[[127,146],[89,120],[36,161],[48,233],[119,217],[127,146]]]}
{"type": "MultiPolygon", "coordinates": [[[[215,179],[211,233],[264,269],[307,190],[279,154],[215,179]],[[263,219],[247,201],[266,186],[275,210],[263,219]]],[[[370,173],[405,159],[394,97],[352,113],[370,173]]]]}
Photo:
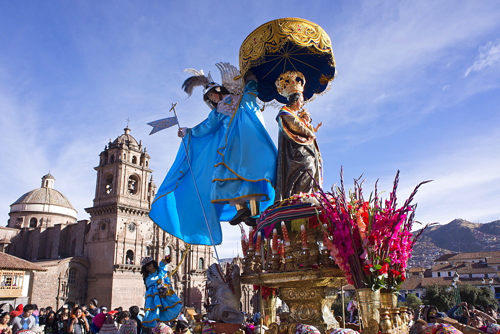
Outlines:
{"type": "MultiPolygon", "coordinates": [[[[243,39],[279,17],[329,34],[338,77],[307,105],[324,186],[364,173],[401,201],[421,180],[417,219],[500,218],[500,3],[497,1],[7,1],[0,0],[0,214],[48,170],[78,211],[92,205],[98,153],[123,132],[147,147],[159,185],[180,143],[169,116],[203,120],[200,91],[186,99],[184,68],[238,63],[243,39]]],[[[216,79],[218,80],[218,79],[216,79]]],[[[276,109],[264,110],[276,140],[276,109]]],[[[221,257],[237,253],[224,227],[221,257]]]]}

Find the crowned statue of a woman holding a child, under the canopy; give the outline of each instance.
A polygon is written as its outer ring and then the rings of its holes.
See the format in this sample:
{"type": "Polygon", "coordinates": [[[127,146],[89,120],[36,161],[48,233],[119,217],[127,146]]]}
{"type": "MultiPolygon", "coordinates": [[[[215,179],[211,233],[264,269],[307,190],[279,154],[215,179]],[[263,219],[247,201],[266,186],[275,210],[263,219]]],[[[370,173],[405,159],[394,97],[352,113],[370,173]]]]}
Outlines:
{"type": "Polygon", "coordinates": [[[279,136],[275,201],[314,192],[322,183],[322,160],[314,134],[321,123],[314,128],[308,112],[298,113],[304,101],[304,84],[304,76],[296,71],[283,73],[276,80],[278,92],[288,98],[288,103],[276,116],[279,136]]]}

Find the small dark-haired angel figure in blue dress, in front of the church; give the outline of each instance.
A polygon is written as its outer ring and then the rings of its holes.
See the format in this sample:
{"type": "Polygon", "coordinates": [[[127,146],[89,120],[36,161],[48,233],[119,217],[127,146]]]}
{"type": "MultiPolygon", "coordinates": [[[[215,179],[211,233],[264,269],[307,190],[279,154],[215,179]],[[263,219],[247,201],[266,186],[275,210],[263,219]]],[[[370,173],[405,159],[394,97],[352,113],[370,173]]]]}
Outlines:
{"type": "Polygon", "coordinates": [[[143,327],[154,328],[157,322],[174,320],[182,308],[170,283],[168,263],[170,255],[165,256],[159,265],[149,256],[140,261],[140,273],[146,285],[143,327]]]}

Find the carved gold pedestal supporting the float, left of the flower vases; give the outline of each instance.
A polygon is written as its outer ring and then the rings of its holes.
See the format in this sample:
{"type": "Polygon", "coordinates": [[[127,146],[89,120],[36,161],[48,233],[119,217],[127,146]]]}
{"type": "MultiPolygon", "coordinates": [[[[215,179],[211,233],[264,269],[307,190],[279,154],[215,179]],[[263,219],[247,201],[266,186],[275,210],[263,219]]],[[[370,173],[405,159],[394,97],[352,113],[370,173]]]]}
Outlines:
{"type": "Polygon", "coordinates": [[[329,328],[338,327],[338,322],[331,312],[335,296],[336,288],[327,286],[279,289],[279,297],[290,309],[288,321],[313,325],[322,333],[329,328]]]}

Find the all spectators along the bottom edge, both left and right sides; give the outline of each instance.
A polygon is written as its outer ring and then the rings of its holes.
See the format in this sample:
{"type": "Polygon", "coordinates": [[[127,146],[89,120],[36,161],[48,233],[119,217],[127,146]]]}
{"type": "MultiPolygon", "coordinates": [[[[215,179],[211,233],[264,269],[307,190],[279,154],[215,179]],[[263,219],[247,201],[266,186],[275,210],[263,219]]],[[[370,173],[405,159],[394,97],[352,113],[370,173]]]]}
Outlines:
{"type": "MultiPolygon", "coordinates": [[[[97,306],[97,304],[96,299],[91,299],[88,305],[74,302],[71,307],[64,304],[56,311],[50,306],[38,308],[35,304],[19,304],[11,312],[0,310],[0,333],[142,334],[143,332],[151,332],[153,334],[190,334],[190,326],[182,313],[168,323],[158,322],[150,330],[142,326],[144,309],[138,306],[130,306],[128,310],[123,310],[122,307],[108,310],[104,305],[97,306]]],[[[347,306],[348,322],[358,324],[357,308],[356,299],[353,298],[347,306]]],[[[431,326],[437,326],[440,321],[436,321],[436,319],[443,317],[454,319],[486,333],[500,334],[497,305],[474,306],[463,301],[445,313],[439,312],[434,305],[421,305],[415,310],[408,308],[406,312],[409,318],[407,323],[409,334],[433,332],[431,326]]],[[[259,328],[260,313],[245,315],[243,327],[247,334],[267,329],[259,328]]]]}

